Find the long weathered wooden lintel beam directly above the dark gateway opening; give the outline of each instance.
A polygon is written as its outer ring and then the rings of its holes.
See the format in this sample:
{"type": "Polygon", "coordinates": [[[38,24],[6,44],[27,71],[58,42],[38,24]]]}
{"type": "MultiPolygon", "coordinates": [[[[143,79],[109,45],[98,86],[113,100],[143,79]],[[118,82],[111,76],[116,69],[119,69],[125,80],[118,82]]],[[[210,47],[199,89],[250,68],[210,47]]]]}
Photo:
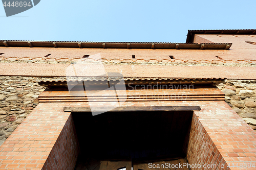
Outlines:
{"type": "MultiPolygon", "coordinates": [[[[117,107],[111,109],[111,107],[97,107],[98,112],[141,112],[141,111],[191,111],[201,110],[200,106],[142,106],[142,107],[117,107]]],[[[90,107],[64,107],[65,112],[91,112],[90,107]]]]}

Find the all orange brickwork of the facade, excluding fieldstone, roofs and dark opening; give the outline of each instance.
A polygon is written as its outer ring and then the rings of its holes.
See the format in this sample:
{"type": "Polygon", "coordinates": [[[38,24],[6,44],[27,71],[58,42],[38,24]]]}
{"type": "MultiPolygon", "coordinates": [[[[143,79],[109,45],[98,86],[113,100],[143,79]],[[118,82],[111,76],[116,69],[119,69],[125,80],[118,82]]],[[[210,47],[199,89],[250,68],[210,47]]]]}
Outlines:
{"type": "MultiPolygon", "coordinates": [[[[101,54],[102,58],[127,59],[132,61],[132,55],[137,59],[155,62],[255,62],[255,35],[196,35],[197,42],[232,42],[230,50],[140,50],[140,49],[96,49],[96,48],[29,48],[0,47],[0,75],[6,76],[66,76],[69,64],[53,63],[12,63],[6,60],[47,60],[76,61],[83,55],[101,54]],[[172,55],[176,60],[171,60],[172,55]],[[221,57],[222,59],[217,58],[221,57]],[[24,58],[25,57],[25,58],[24,58]],[[6,62],[6,63],[5,63],[6,62]]],[[[55,62],[56,63],[56,62],[55,62]]],[[[245,66],[182,66],[182,65],[115,65],[105,64],[108,72],[121,72],[124,77],[164,77],[164,78],[228,78],[255,79],[256,67],[253,63],[245,66]]],[[[95,76],[96,71],[90,71],[87,76],[95,76]]],[[[130,95],[156,96],[159,93],[181,94],[175,90],[136,90],[130,95]]],[[[207,95],[223,94],[218,89],[189,89],[185,94],[207,95]]],[[[216,99],[216,96],[213,98],[216,99]]],[[[41,96],[50,99],[53,96],[67,97],[67,91],[45,92],[41,96]]],[[[223,97],[223,96],[222,96],[223,97]]],[[[148,97],[149,98],[149,97],[148,97]]],[[[197,100],[158,100],[160,95],[150,100],[133,100],[129,98],[122,107],[129,106],[189,106],[197,105],[200,111],[195,111],[189,136],[187,159],[190,164],[200,164],[201,168],[191,169],[255,169],[245,167],[245,163],[256,165],[256,133],[244,120],[234,112],[224,101],[197,100]],[[230,164],[242,167],[230,167],[230,164]],[[218,167],[204,168],[206,165],[218,167]],[[219,165],[224,164],[223,167],[219,165]]],[[[102,105],[112,102],[103,100],[102,105]]],[[[86,102],[45,100],[39,103],[31,114],[0,147],[0,169],[74,169],[79,144],[74,133],[74,124],[70,112],[63,112],[63,107],[89,106],[86,102]]],[[[96,104],[96,102],[94,103],[96,104]]]]}

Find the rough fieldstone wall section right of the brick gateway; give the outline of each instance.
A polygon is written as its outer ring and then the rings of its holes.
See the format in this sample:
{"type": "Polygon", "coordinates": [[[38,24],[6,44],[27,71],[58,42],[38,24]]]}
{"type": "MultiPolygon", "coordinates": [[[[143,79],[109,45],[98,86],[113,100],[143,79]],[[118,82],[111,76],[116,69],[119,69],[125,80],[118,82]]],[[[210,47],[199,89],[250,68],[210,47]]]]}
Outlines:
{"type": "Polygon", "coordinates": [[[256,130],[256,80],[225,80],[217,86],[225,102],[256,130]]]}

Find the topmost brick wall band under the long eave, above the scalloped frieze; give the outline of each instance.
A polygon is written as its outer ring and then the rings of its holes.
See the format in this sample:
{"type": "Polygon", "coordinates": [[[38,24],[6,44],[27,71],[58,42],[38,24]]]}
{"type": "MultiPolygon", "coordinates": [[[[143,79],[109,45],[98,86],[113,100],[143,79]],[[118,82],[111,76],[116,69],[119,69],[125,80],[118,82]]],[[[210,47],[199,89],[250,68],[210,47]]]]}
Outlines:
{"type": "Polygon", "coordinates": [[[0,47],[1,59],[8,60],[60,60],[67,61],[73,59],[81,59],[84,55],[100,54],[102,58],[106,59],[135,59],[144,60],[172,60],[169,56],[174,56],[178,60],[200,60],[212,61],[219,60],[216,56],[223,58],[219,62],[225,60],[232,60],[229,62],[236,62],[238,60],[251,61],[255,60],[256,45],[248,44],[245,41],[254,41],[255,35],[239,35],[241,37],[233,37],[232,35],[196,35],[196,41],[199,43],[224,43],[232,42],[230,50],[176,50],[176,49],[103,49],[103,48],[53,48],[53,47],[0,47]],[[214,37],[214,38],[213,38],[214,37]],[[224,38],[227,37],[227,38],[224,38]],[[242,46],[241,46],[242,44],[242,46]],[[249,49],[249,50],[248,50],[249,49]],[[49,57],[44,57],[51,54],[49,57]]]}

